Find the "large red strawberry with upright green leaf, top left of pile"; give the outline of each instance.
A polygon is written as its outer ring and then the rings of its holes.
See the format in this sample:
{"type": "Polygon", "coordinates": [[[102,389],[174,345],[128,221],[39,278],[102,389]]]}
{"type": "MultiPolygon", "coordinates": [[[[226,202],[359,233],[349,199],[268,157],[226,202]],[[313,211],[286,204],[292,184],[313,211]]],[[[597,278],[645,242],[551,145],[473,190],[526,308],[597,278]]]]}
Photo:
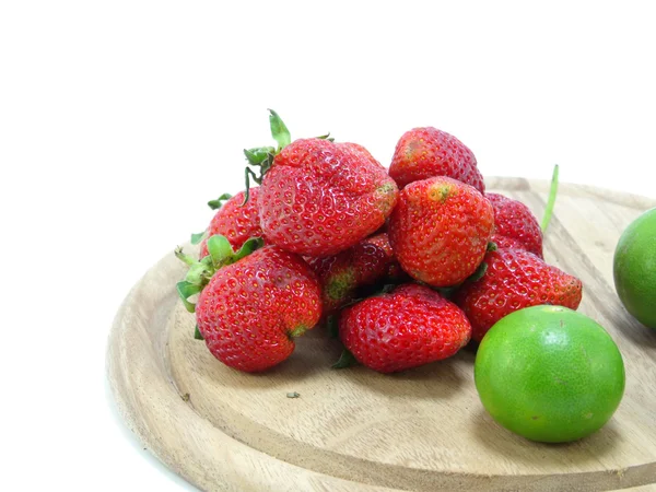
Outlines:
{"type": "Polygon", "coordinates": [[[279,143],[245,151],[262,177],[258,197],[265,239],[303,256],[327,257],[348,249],[384,223],[398,188],[363,147],[327,138],[291,142],[289,130],[271,112],[279,143]]]}

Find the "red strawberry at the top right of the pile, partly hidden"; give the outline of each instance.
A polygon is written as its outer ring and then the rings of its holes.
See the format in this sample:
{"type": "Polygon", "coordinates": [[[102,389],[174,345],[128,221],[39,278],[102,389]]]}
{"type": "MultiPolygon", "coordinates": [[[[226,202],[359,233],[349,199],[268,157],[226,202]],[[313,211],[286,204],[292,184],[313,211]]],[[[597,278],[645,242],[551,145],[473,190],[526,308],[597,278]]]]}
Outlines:
{"type": "Polygon", "coordinates": [[[391,157],[389,175],[399,188],[433,176],[448,176],[481,194],[485,190],[473,153],[454,136],[433,127],[403,133],[391,157]]]}

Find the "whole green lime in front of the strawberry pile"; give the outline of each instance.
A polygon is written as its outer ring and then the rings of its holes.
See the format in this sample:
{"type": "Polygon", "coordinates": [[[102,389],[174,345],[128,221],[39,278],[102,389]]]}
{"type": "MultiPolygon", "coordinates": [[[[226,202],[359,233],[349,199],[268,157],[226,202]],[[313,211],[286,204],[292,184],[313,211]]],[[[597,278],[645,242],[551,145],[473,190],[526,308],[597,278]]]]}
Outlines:
{"type": "Polygon", "coordinates": [[[601,429],[624,394],[624,362],[608,332],[561,306],[500,319],[476,355],[476,388],[504,427],[531,441],[576,441],[601,429]]]}

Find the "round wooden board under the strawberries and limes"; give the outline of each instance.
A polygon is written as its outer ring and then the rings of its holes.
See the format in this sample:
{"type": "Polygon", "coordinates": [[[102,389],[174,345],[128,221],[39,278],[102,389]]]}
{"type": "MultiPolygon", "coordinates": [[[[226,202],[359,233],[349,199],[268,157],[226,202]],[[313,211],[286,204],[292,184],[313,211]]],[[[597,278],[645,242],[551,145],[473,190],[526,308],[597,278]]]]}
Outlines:
{"type": "MultiPolygon", "coordinates": [[[[491,178],[541,216],[548,183],[491,178]]],[[[633,320],[612,284],[623,229],[656,200],[561,185],[547,261],[581,278],[579,311],[605,326],[626,366],[612,420],[567,445],[520,438],[484,412],[473,353],[396,375],[330,368],[337,341],[320,329],[266,374],[222,365],[194,339],[177,300],[173,253],[132,289],[109,338],[107,370],[126,422],[202,490],[616,490],[656,482],[656,331],[633,320]],[[288,398],[296,391],[298,398],[288,398]]],[[[642,489],[641,489],[642,490],[642,489]]]]}

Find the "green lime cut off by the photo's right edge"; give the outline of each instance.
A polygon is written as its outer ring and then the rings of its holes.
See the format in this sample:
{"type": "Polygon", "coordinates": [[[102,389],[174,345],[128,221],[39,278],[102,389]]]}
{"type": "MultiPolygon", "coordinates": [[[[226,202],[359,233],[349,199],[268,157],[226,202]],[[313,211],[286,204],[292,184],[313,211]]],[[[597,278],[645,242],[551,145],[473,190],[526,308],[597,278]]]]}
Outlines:
{"type": "Polygon", "coordinates": [[[626,311],[656,329],[656,208],[624,230],[612,267],[616,290],[626,311]]]}

